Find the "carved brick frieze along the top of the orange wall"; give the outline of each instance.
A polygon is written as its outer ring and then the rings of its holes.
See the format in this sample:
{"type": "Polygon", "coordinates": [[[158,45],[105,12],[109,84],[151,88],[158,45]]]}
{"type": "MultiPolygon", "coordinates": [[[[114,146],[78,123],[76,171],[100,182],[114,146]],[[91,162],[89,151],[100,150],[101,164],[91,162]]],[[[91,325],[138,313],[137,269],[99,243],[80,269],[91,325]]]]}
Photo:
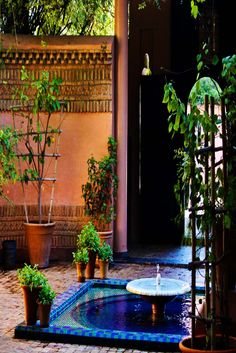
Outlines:
{"type": "Polygon", "coordinates": [[[19,101],[12,98],[21,86],[24,65],[34,77],[46,70],[60,77],[61,100],[67,101],[67,112],[112,111],[112,52],[100,50],[1,50],[0,110],[6,111],[19,101]]]}

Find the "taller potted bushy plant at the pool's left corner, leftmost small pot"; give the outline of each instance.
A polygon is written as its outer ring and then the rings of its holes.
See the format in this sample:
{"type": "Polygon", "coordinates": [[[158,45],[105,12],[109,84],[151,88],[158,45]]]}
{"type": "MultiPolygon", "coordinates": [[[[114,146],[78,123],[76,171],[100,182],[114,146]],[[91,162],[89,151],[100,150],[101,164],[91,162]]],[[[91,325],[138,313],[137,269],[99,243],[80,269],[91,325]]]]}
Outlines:
{"type": "Polygon", "coordinates": [[[24,267],[17,269],[17,278],[20,283],[24,298],[25,323],[35,325],[37,321],[37,300],[39,292],[47,283],[47,278],[34,265],[24,264],[24,267]]]}

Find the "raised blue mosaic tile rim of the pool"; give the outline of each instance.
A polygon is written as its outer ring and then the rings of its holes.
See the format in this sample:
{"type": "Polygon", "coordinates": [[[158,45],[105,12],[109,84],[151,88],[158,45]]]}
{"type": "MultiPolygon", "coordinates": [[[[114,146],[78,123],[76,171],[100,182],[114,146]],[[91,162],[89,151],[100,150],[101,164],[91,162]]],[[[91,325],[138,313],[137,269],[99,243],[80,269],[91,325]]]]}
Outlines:
{"type": "Polygon", "coordinates": [[[128,282],[129,280],[123,279],[94,279],[85,283],[75,283],[56,297],[51,310],[49,327],[41,328],[38,322],[35,326],[26,326],[22,323],[15,328],[15,338],[120,348],[178,351],[178,343],[183,338],[182,335],[127,332],[99,328],[71,328],[69,326],[57,327],[53,325],[53,320],[94,285],[125,288],[128,282]]]}

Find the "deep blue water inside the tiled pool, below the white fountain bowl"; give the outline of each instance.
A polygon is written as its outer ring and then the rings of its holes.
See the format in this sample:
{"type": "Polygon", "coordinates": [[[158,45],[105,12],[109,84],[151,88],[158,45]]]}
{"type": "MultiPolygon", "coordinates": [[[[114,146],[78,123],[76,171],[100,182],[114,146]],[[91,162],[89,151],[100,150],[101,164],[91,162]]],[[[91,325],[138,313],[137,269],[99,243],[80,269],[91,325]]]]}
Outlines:
{"type": "Polygon", "coordinates": [[[189,310],[189,296],[177,296],[167,303],[165,317],[154,320],[151,304],[139,296],[124,288],[94,286],[52,324],[71,328],[188,335],[190,320],[186,317],[189,310]]]}

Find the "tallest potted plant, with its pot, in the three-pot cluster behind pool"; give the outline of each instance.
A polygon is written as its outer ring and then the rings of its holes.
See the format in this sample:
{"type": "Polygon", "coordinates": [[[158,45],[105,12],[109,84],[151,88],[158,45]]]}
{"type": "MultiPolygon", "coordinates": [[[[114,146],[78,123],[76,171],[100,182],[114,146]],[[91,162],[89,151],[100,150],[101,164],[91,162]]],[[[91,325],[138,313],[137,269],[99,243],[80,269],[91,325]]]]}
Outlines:
{"type": "Polygon", "coordinates": [[[99,249],[100,238],[94,224],[89,221],[82,227],[80,234],[77,237],[77,248],[87,249],[89,261],[86,266],[85,277],[94,278],[96,256],[99,249]]]}

